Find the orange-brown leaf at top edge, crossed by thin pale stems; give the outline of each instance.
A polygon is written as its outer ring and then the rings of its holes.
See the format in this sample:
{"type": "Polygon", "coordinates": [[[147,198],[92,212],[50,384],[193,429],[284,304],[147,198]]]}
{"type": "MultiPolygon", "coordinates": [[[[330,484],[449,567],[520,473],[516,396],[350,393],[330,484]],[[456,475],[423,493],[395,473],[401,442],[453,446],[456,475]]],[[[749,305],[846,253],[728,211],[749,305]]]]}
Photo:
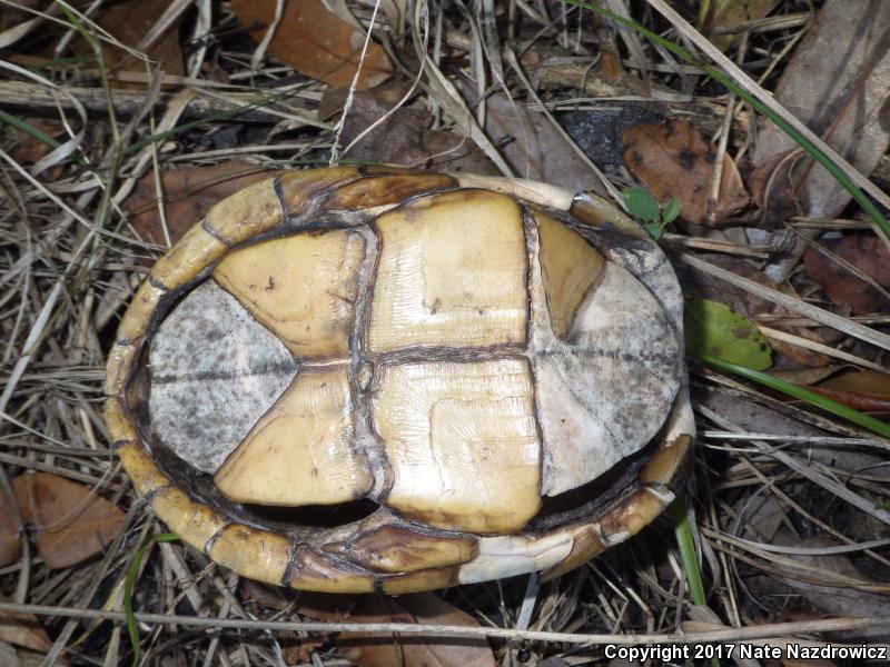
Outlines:
{"type": "MultiPolygon", "coordinates": [[[[276,0],[233,0],[231,9],[257,40],[275,18],[276,0]]],[[[393,64],[382,47],[328,11],[318,0],[286,0],[281,21],[269,42],[269,53],[307,77],[348,88],[360,66],[357,88],[373,88],[393,76],[393,64]]]]}

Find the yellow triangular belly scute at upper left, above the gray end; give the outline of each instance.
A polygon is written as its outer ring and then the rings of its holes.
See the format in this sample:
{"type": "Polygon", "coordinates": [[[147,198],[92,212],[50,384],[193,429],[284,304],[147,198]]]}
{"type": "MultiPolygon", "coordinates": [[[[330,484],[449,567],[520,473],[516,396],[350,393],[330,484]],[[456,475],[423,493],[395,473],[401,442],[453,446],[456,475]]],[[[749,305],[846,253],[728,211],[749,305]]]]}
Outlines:
{"type": "Polygon", "coordinates": [[[364,255],[357,231],[295,233],[230,252],[214,278],[298,359],[345,359],[364,255]]]}

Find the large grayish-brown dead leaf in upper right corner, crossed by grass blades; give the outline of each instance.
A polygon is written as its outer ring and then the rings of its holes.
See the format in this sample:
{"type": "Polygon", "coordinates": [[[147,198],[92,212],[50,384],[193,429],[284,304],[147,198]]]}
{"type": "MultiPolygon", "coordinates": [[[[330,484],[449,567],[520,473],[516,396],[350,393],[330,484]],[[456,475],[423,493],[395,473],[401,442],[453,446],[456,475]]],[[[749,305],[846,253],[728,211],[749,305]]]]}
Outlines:
{"type": "MultiPolygon", "coordinates": [[[[869,175],[890,145],[890,2],[828,0],[782,73],[774,98],[869,175]]],[[[765,121],[753,160],[797,149],[789,136],[765,121]]],[[[850,195],[822,167],[803,159],[794,180],[808,216],[830,218],[850,195]]]]}

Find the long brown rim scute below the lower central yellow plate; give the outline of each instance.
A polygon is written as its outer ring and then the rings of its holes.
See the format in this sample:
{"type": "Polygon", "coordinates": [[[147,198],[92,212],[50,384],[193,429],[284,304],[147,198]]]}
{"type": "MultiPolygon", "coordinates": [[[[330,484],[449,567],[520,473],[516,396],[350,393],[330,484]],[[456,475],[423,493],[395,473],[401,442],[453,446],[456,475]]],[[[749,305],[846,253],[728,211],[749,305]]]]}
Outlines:
{"type": "Polygon", "coordinates": [[[329,547],[368,569],[403,573],[466,563],[476,556],[477,542],[469,535],[429,535],[407,526],[384,525],[354,541],[329,547]]]}

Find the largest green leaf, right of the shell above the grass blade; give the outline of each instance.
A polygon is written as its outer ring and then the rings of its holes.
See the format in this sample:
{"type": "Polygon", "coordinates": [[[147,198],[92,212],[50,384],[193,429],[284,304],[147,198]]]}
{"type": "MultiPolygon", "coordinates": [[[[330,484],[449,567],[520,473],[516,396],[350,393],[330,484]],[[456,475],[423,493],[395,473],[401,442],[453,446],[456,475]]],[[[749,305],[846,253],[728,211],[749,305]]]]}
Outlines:
{"type": "Polygon", "coordinates": [[[754,370],[772,366],[772,350],[758,328],[723,303],[686,299],[683,313],[686,352],[708,355],[754,370]]]}

